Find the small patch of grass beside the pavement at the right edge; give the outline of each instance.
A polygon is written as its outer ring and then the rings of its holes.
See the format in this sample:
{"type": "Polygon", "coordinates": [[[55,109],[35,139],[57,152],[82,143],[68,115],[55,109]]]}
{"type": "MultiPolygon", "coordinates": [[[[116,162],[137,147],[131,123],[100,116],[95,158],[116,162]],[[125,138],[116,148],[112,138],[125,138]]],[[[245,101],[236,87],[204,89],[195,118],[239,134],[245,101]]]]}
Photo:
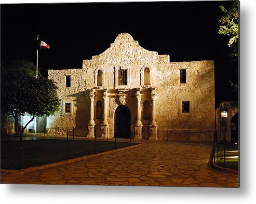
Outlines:
{"type": "MultiPolygon", "coordinates": [[[[238,150],[238,145],[233,143],[225,144],[225,151],[234,151],[234,150],[238,150]]],[[[224,158],[221,159],[222,157],[224,157],[224,154],[222,153],[223,151],[224,151],[223,143],[217,143],[217,158],[215,161],[216,161],[216,165],[220,167],[224,167],[224,158]]],[[[226,153],[226,157],[229,157],[229,156],[239,156],[239,155],[235,153],[226,153]]],[[[226,160],[226,168],[238,170],[239,160],[238,159],[226,160]]]]}

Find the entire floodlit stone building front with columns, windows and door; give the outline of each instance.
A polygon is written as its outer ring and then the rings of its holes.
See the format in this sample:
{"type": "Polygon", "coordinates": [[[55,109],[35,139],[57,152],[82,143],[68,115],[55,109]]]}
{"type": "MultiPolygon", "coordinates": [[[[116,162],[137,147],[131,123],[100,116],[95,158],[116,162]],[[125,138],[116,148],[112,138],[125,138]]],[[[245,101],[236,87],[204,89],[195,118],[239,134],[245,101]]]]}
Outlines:
{"type": "Polygon", "coordinates": [[[214,62],[170,62],[128,33],[82,69],[48,70],[61,108],[49,134],[212,142],[214,62]]]}

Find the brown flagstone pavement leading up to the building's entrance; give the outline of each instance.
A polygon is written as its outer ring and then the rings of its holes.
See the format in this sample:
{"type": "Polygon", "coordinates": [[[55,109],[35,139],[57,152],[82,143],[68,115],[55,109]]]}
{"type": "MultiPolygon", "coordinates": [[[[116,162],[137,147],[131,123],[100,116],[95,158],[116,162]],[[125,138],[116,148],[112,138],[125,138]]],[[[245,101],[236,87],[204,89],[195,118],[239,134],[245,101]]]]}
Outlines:
{"type": "Polygon", "coordinates": [[[212,145],[143,141],[143,145],[23,175],[1,183],[238,187],[238,175],[208,166],[212,145]]]}

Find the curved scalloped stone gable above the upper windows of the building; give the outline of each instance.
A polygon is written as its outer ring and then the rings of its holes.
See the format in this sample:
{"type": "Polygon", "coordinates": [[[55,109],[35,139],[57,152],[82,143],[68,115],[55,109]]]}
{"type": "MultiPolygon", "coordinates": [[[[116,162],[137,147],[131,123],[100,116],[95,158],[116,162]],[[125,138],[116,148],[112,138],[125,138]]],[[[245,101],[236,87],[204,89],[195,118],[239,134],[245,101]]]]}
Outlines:
{"type": "Polygon", "coordinates": [[[169,62],[169,55],[158,55],[141,47],[128,33],[120,33],[114,43],[91,60],[83,60],[83,68],[92,66],[126,66],[138,64],[158,64],[169,62]]]}

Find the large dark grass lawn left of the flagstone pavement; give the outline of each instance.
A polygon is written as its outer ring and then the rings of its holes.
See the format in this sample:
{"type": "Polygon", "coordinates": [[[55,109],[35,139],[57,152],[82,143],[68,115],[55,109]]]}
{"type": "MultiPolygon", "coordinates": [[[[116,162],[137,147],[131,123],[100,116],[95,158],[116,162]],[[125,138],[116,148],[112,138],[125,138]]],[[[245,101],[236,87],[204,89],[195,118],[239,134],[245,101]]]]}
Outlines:
{"type": "MultiPolygon", "coordinates": [[[[134,145],[136,143],[131,143],[134,145]]],[[[116,142],[116,148],[130,146],[129,142],[116,142]]],[[[21,169],[40,166],[67,159],[66,140],[22,141],[21,169]]],[[[96,153],[115,149],[115,142],[97,141],[96,153]]],[[[94,141],[69,140],[68,159],[95,153],[94,141]]],[[[1,168],[19,168],[19,141],[1,142],[1,168]]]]}

